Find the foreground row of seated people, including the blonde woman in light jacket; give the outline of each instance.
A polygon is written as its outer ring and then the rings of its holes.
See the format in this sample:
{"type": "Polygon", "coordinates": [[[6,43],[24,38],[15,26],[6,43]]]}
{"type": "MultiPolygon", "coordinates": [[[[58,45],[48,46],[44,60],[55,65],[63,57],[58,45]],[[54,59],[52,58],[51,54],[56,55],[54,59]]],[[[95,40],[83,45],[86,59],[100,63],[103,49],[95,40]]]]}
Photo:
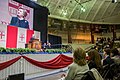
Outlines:
{"type": "MultiPolygon", "coordinates": [[[[92,49],[88,52],[89,58],[86,60],[86,52],[81,48],[75,49],[73,63],[68,67],[67,73],[61,76],[60,80],[113,80],[114,77],[111,77],[113,72],[114,75],[120,73],[120,54],[116,48],[112,51],[105,49],[103,54],[104,58],[100,57],[97,50],[92,49]],[[108,65],[107,70],[106,65],[108,65]],[[89,76],[86,76],[86,74],[89,74],[89,76]]],[[[116,77],[118,78],[118,76],[116,77]]]]}

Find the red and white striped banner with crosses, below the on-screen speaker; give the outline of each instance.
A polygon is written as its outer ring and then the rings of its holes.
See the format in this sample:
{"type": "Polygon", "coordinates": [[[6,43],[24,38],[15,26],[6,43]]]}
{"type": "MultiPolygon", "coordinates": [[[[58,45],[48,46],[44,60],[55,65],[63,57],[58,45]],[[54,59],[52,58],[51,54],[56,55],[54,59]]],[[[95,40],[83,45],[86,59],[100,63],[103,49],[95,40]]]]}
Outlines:
{"type": "Polygon", "coordinates": [[[29,29],[0,25],[0,47],[25,48],[32,35],[40,41],[40,32],[29,29]]]}

